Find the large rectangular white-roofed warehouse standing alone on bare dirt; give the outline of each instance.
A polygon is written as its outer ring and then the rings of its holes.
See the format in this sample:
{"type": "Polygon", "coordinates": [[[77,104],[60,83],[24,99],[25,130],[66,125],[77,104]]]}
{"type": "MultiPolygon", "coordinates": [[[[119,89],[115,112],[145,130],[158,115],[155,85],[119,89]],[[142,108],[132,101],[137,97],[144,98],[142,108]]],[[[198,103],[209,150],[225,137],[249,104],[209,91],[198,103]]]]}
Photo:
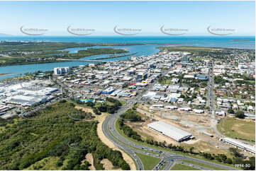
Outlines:
{"type": "Polygon", "coordinates": [[[178,129],[175,126],[167,124],[165,122],[153,122],[148,124],[148,128],[153,129],[154,131],[160,132],[165,136],[169,136],[169,138],[174,139],[175,141],[184,141],[185,139],[192,136],[187,131],[183,131],[182,129],[178,129]]]}

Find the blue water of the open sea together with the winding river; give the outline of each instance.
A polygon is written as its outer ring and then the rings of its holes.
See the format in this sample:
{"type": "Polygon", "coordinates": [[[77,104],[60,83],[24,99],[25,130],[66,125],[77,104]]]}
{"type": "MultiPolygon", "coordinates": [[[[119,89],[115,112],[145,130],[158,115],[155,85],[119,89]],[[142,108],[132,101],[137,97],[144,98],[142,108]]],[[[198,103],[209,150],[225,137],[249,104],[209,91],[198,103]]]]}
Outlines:
{"type": "MultiPolygon", "coordinates": [[[[108,47],[90,47],[90,48],[117,48],[128,49],[129,53],[135,53],[136,56],[150,55],[159,52],[159,47],[162,44],[165,46],[197,46],[197,47],[226,47],[239,49],[255,49],[255,36],[12,36],[0,37],[0,40],[16,40],[16,41],[50,41],[50,42],[99,42],[99,43],[143,43],[147,45],[134,46],[108,46],[108,47]],[[155,45],[154,45],[155,44],[155,45]]],[[[87,47],[77,47],[65,49],[69,53],[77,53],[79,49],[87,49],[87,47]]],[[[108,57],[108,54],[95,55],[85,57],[84,59],[96,59],[108,57]]],[[[128,59],[120,57],[116,59],[106,59],[108,61],[116,61],[120,59],[128,59]]],[[[105,60],[105,61],[106,61],[105,60]]],[[[0,76],[0,80],[23,75],[24,73],[33,73],[35,71],[52,71],[55,67],[60,66],[79,66],[86,65],[89,62],[84,61],[69,61],[56,62],[48,64],[27,64],[18,66],[2,66],[0,73],[11,73],[9,75],[0,76]]]]}

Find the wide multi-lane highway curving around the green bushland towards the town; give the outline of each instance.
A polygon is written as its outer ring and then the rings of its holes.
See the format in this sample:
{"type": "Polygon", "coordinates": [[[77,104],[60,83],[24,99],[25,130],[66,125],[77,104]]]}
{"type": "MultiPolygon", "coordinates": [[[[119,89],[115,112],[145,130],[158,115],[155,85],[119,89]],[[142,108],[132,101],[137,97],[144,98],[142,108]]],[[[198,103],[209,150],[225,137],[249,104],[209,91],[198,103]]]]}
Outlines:
{"type": "MultiPolygon", "coordinates": [[[[163,75],[165,75],[168,72],[169,72],[169,70],[165,71],[165,73],[163,73],[163,75]]],[[[202,164],[206,164],[206,165],[210,165],[210,166],[214,166],[214,167],[220,167],[223,170],[235,170],[233,167],[228,167],[226,165],[219,165],[216,163],[208,162],[206,160],[191,158],[191,157],[187,157],[185,155],[177,155],[175,153],[170,153],[169,151],[163,151],[163,150],[160,151],[157,148],[151,148],[148,146],[144,146],[144,145],[141,145],[140,143],[135,143],[133,141],[130,141],[128,138],[121,136],[121,134],[118,133],[118,131],[116,130],[117,119],[120,117],[121,114],[126,112],[126,110],[128,110],[130,107],[133,107],[133,105],[136,102],[140,101],[140,99],[147,92],[147,90],[150,90],[150,88],[152,88],[152,86],[154,86],[155,83],[157,83],[157,81],[154,81],[153,83],[150,84],[150,86],[141,90],[141,92],[138,93],[138,95],[133,100],[128,100],[126,102],[126,104],[123,105],[118,110],[118,112],[110,115],[108,118],[105,119],[105,121],[102,125],[102,129],[103,129],[106,137],[110,141],[112,141],[116,146],[121,148],[123,151],[126,151],[126,153],[128,153],[128,155],[130,155],[130,157],[133,158],[133,160],[135,161],[135,164],[138,167],[138,170],[144,170],[144,167],[143,167],[143,163],[141,162],[140,158],[138,158],[138,156],[135,155],[135,152],[142,153],[144,155],[149,155],[149,156],[152,156],[155,158],[160,158],[161,159],[160,163],[158,163],[153,168],[153,170],[160,170],[161,164],[163,164],[163,163],[166,164],[165,168],[163,170],[170,170],[170,168],[174,165],[173,162],[175,160],[191,160],[196,163],[202,163],[202,164]]],[[[196,166],[196,167],[200,167],[200,166],[196,166]]]]}

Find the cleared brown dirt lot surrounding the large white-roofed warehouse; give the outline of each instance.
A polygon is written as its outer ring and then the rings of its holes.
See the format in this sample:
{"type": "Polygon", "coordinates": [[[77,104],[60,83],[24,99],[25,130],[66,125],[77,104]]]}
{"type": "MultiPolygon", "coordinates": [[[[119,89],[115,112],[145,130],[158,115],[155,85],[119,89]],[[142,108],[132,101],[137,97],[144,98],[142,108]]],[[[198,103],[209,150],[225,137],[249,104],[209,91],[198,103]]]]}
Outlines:
{"type": "Polygon", "coordinates": [[[145,134],[146,136],[151,136],[155,141],[166,141],[167,144],[172,143],[174,145],[180,145],[186,148],[194,147],[195,151],[204,151],[208,153],[224,153],[230,156],[230,153],[228,151],[229,147],[226,146],[226,144],[221,143],[221,141],[218,141],[218,138],[215,136],[211,127],[212,125],[210,117],[192,113],[186,114],[177,111],[151,111],[149,107],[149,105],[140,104],[137,108],[137,111],[143,115],[142,117],[144,117],[145,122],[127,122],[126,124],[135,129],[135,131],[138,131],[138,133],[143,132],[143,134],[145,134]],[[176,126],[177,128],[184,131],[188,131],[196,138],[193,140],[178,143],[177,141],[174,141],[167,136],[148,129],[148,124],[157,120],[176,126]],[[203,131],[206,131],[209,134],[213,134],[214,137],[211,138],[210,136],[202,134],[203,131]]]}

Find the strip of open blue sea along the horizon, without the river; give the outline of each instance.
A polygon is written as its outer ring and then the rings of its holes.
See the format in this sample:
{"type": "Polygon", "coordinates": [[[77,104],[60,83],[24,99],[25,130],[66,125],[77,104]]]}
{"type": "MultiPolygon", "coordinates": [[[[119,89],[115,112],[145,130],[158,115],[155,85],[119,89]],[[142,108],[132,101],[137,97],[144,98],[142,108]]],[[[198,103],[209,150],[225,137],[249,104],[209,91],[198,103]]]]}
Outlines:
{"type": "Polygon", "coordinates": [[[0,40],[151,44],[162,43],[188,46],[255,49],[255,36],[12,36],[0,37],[0,40]]]}

